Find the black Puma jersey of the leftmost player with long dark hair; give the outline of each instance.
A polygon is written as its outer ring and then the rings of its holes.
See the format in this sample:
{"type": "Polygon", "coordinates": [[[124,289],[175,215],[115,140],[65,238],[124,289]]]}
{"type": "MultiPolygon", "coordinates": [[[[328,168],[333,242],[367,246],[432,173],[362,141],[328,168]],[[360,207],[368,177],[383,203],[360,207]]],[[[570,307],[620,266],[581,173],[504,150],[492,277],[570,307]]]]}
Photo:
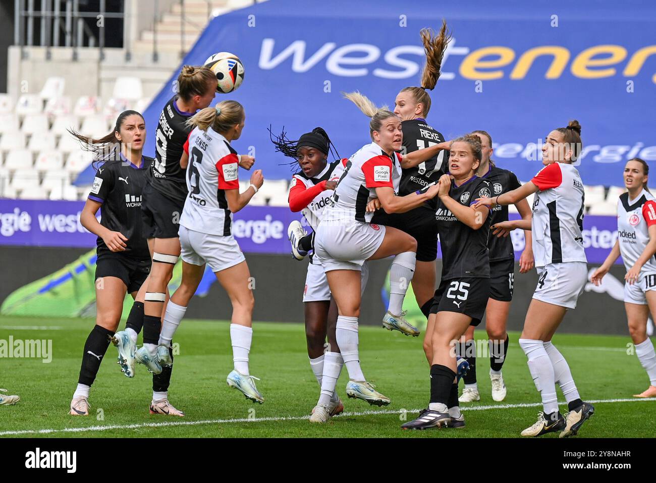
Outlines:
{"type": "MultiPolygon", "coordinates": [[[[127,238],[125,251],[119,253],[135,259],[150,259],[148,243],[141,231],[141,194],[148,182],[148,169],[153,158],[144,156],[141,168],[121,159],[106,161],[93,180],[89,199],[102,203],[100,224],[127,238]]],[[[98,255],[111,250],[98,237],[98,255]]]]}

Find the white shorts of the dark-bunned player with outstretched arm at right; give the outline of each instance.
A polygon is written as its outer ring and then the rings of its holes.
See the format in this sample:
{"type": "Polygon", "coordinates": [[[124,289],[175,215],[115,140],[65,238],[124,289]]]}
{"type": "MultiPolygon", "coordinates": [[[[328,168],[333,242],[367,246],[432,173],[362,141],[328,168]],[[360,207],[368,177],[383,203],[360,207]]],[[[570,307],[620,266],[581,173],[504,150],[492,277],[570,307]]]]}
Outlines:
{"type": "Polygon", "coordinates": [[[550,263],[537,268],[539,276],[533,299],[566,308],[576,308],[588,282],[585,262],[550,263]]]}

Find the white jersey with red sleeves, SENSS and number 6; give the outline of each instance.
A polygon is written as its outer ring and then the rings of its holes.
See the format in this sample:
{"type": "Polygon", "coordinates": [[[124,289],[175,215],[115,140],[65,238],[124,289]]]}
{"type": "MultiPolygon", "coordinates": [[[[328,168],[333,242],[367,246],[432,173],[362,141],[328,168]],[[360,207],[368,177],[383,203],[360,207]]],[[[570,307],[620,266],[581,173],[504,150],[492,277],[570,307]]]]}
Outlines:
{"type": "Polygon", "coordinates": [[[194,128],[184,143],[184,152],[189,155],[188,194],[180,224],[194,232],[230,236],[232,213],[226,190],[239,191],[237,152],[211,127],[207,131],[194,128]]]}

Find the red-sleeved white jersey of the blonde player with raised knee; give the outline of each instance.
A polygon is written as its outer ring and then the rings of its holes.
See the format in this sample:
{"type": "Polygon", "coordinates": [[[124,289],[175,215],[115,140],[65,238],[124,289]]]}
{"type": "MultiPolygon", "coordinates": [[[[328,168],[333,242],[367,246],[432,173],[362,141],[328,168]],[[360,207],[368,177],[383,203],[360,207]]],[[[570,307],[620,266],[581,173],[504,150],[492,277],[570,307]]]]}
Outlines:
{"type": "Polygon", "coordinates": [[[376,196],[376,188],[388,186],[398,193],[400,180],[401,155],[390,157],[375,142],[365,144],[348,159],[323,219],[371,222],[367,202],[376,196]]]}

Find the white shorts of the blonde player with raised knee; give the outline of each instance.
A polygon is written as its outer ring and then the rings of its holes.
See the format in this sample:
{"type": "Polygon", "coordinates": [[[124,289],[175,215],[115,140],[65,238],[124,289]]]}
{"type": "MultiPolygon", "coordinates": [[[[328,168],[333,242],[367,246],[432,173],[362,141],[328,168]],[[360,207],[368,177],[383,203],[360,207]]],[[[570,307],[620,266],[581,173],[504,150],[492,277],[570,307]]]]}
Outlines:
{"type": "Polygon", "coordinates": [[[319,224],[314,253],[325,272],[361,270],[385,238],[385,227],[355,220],[327,220],[319,224]]]}

